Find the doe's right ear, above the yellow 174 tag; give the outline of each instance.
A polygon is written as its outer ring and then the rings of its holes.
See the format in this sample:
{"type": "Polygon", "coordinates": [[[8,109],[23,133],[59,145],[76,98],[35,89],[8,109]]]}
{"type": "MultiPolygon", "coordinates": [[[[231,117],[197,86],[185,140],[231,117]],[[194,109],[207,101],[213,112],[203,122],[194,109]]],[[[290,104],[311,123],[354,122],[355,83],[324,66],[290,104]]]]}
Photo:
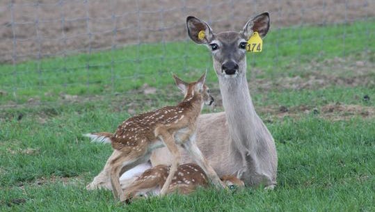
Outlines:
{"type": "Polygon", "coordinates": [[[251,18],[241,33],[244,35],[246,40],[250,38],[253,32],[258,32],[261,38],[264,38],[269,31],[269,13],[264,12],[251,18]]]}

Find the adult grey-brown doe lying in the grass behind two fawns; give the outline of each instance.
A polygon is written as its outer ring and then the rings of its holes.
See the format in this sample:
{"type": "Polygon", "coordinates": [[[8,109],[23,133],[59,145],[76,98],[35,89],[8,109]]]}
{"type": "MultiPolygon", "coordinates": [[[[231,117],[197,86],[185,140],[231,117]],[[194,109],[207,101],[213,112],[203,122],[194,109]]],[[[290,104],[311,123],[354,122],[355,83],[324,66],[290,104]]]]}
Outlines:
{"type": "MultiPolygon", "coordinates": [[[[219,176],[232,175],[247,186],[276,185],[278,156],[275,142],[255,112],[246,81],[246,41],[257,31],[264,38],[269,31],[269,13],[251,18],[240,32],[214,33],[196,17],[187,17],[189,37],[205,44],[212,51],[214,70],[218,76],[225,112],[202,114],[198,117],[197,145],[219,176]],[[205,37],[198,34],[204,31],[205,37]]],[[[168,150],[157,149],[151,156],[152,165],[170,164],[168,150]]],[[[182,152],[183,163],[191,161],[182,152]]],[[[124,180],[125,182],[126,180],[124,180]]],[[[108,166],[87,186],[111,188],[108,166]]]]}

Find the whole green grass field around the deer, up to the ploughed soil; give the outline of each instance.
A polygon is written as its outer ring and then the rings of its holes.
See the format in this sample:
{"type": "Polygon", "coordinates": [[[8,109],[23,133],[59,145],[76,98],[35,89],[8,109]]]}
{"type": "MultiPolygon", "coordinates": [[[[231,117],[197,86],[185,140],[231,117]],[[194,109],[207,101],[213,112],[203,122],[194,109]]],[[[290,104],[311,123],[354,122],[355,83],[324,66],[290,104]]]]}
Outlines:
{"type": "MultiPolygon", "coordinates": [[[[220,99],[207,49],[148,44],[1,65],[0,211],[375,211],[374,31],[374,21],[285,28],[249,55],[250,92],[278,149],[275,190],[208,189],[131,205],[85,189],[111,147],[81,134],[174,104],[182,97],[170,72],[191,80],[209,68],[220,99]],[[144,94],[144,83],[157,92],[144,94]]],[[[205,113],[221,110],[218,101],[205,113]]]]}

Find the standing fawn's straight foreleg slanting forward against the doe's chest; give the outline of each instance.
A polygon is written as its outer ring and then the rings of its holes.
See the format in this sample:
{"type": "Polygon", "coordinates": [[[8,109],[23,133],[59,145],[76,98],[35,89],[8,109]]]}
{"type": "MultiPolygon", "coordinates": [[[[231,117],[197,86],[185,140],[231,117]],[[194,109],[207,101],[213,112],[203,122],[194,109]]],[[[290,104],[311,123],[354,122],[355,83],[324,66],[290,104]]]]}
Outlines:
{"type": "Polygon", "coordinates": [[[184,143],[184,149],[186,149],[186,151],[189,152],[193,160],[196,161],[196,163],[198,163],[198,165],[202,168],[203,171],[205,171],[207,177],[209,177],[213,184],[215,184],[216,186],[226,188],[225,184],[223,184],[221,179],[218,177],[218,174],[216,174],[214,168],[212,168],[212,166],[209,165],[205,156],[203,156],[202,152],[200,152],[200,149],[196,145],[196,140],[194,138],[191,138],[184,143]]]}

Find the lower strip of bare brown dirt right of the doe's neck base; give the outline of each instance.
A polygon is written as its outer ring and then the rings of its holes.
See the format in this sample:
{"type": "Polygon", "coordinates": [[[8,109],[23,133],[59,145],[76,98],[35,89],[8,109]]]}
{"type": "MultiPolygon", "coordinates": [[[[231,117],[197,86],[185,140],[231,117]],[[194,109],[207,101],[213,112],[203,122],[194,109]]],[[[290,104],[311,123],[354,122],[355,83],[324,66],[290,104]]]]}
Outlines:
{"type": "Polygon", "coordinates": [[[256,111],[260,114],[269,115],[270,118],[282,119],[284,117],[301,117],[304,114],[314,114],[324,119],[339,121],[348,120],[351,117],[375,118],[375,108],[356,104],[327,104],[325,106],[286,106],[260,107],[256,111]]]}

